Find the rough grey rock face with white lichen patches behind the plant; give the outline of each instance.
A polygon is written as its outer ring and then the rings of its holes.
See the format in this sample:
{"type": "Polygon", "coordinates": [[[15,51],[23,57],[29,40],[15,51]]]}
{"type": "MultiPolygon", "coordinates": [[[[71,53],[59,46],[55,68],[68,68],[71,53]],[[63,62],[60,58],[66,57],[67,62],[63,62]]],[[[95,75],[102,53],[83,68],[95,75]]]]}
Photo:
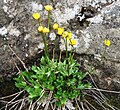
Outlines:
{"type": "MultiPolygon", "coordinates": [[[[32,14],[46,15],[46,4],[54,7],[53,22],[72,31],[77,39],[77,59],[83,61],[86,68],[87,64],[95,65],[99,86],[120,90],[119,0],[1,0],[0,77],[11,77],[18,72],[17,67],[21,66],[18,57],[25,64],[39,57],[43,44],[32,14]],[[106,49],[103,64],[105,39],[109,39],[111,45],[106,49]]],[[[60,48],[64,49],[62,45],[60,48]]]]}

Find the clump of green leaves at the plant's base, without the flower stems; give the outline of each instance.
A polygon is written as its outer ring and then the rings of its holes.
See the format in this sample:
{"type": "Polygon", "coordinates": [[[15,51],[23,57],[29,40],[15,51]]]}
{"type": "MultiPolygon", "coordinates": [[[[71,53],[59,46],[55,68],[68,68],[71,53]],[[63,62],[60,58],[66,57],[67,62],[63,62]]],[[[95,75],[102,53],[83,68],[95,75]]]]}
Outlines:
{"type": "Polygon", "coordinates": [[[30,72],[24,71],[15,78],[15,85],[29,93],[30,100],[47,96],[53,91],[53,97],[58,99],[57,104],[65,104],[68,99],[74,99],[90,83],[83,83],[86,74],[79,70],[79,64],[71,59],[69,62],[41,58],[40,66],[32,66],[30,72]],[[68,71],[69,64],[69,71],[68,71]]]}

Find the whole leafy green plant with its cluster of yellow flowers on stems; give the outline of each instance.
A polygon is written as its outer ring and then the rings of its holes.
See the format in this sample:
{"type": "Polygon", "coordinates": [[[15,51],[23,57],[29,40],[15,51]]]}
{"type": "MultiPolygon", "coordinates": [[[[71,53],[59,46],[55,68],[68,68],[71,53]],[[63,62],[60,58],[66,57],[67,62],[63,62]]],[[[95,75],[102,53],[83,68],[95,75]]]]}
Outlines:
{"type": "MultiPolygon", "coordinates": [[[[34,65],[31,70],[21,72],[15,78],[15,85],[19,89],[27,91],[28,97],[32,101],[45,98],[52,91],[52,98],[57,99],[58,106],[62,106],[68,99],[73,100],[81,95],[84,89],[91,87],[91,84],[83,81],[87,73],[79,69],[80,65],[73,58],[72,52],[68,51],[68,46],[71,46],[71,51],[75,51],[74,45],[77,41],[73,39],[71,32],[59,27],[57,23],[52,26],[50,19],[53,7],[47,5],[45,9],[48,12],[48,24],[43,27],[39,22],[38,27],[44,43],[44,56],[42,56],[39,66],[34,65]],[[61,37],[64,41],[66,57],[63,61],[54,57],[50,58],[47,39],[51,31],[54,31],[56,36],[61,37]]],[[[34,13],[33,18],[39,21],[40,14],[34,13]]]]}

